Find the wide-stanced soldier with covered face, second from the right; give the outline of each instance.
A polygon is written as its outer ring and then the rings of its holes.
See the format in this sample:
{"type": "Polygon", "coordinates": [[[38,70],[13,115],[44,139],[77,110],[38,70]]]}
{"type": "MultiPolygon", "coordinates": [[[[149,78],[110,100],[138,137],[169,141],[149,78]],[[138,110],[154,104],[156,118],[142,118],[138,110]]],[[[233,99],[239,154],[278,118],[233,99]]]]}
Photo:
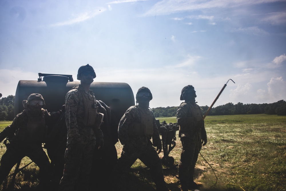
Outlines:
{"type": "Polygon", "coordinates": [[[139,88],[136,103],[124,113],[118,126],[118,138],[123,145],[121,157],[115,167],[115,176],[120,177],[139,159],[148,168],[156,184],[156,190],[169,190],[164,181],[161,160],[152,146],[151,137],[158,153],[162,150],[159,131],[153,112],[149,109],[152,94],[146,87],[139,88]]]}

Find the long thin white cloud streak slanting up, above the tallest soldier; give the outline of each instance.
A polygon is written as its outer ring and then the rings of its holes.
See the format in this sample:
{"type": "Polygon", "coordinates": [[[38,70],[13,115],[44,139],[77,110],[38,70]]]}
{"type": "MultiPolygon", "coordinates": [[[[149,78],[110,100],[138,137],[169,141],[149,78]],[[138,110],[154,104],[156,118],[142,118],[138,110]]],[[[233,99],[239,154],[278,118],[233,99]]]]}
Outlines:
{"type": "Polygon", "coordinates": [[[93,12],[86,12],[82,13],[81,15],[78,15],[76,18],[68,20],[68,21],[63,21],[63,22],[58,22],[55,24],[49,25],[50,27],[57,27],[57,26],[64,26],[64,25],[73,25],[77,23],[84,22],[88,19],[91,19],[95,17],[96,15],[99,15],[100,13],[103,13],[106,11],[106,8],[98,7],[95,11],[93,12]]]}

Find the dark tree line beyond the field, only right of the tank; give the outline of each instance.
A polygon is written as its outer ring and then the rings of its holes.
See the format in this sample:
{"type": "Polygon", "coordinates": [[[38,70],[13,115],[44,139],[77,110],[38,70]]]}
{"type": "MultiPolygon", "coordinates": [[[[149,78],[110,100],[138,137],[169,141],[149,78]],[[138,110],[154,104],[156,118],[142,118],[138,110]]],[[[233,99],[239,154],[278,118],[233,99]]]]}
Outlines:
{"type": "MultiPolygon", "coordinates": [[[[203,115],[209,106],[201,106],[203,115]]],[[[176,117],[177,107],[156,107],[152,108],[155,117],[176,117]]],[[[275,103],[243,104],[227,103],[210,109],[208,115],[241,115],[241,114],[268,114],[286,115],[286,101],[280,100],[275,103]]]]}

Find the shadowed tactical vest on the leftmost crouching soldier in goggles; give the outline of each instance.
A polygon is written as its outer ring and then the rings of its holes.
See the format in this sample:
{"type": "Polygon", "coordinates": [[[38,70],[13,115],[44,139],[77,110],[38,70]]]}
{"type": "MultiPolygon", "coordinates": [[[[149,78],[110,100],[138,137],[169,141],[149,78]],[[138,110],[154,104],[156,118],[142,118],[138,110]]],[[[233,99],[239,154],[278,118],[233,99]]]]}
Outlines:
{"type": "Polygon", "coordinates": [[[27,109],[23,112],[28,116],[28,123],[27,127],[19,128],[17,136],[26,142],[43,143],[47,133],[47,127],[45,126],[45,110],[41,109],[41,113],[38,116],[31,115],[27,109]]]}

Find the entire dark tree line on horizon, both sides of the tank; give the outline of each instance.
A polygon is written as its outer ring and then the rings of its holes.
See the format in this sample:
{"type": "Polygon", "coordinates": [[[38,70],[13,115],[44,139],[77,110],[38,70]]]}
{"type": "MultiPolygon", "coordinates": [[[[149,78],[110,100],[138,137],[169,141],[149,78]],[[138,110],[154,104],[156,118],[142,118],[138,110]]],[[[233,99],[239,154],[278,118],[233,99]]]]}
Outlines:
{"type": "MultiPolygon", "coordinates": [[[[15,96],[9,95],[2,98],[0,93],[0,121],[13,121],[14,119],[15,96]]],[[[208,110],[208,106],[201,106],[203,115],[208,110]]],[[[155,117],[176,117],[177,107],[156,107],[152,108],[155,117]]],[[[227,103],[213,107],[208,115],[241,115],[241,114],[268,114],[286,115],[286,101],[280,100],[275,103],[243,104],[227,103]]]]}

